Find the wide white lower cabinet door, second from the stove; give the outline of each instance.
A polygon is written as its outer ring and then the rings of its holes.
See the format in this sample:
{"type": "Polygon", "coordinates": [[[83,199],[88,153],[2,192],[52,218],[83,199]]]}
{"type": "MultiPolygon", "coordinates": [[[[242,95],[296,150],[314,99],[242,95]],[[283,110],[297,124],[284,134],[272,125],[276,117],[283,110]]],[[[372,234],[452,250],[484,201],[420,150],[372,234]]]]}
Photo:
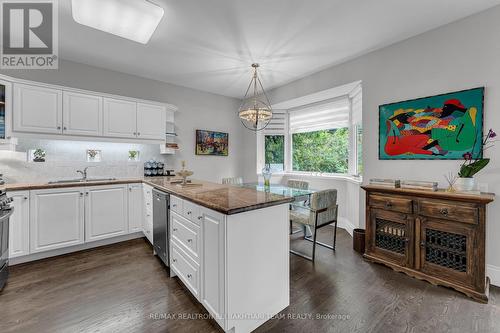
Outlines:
{"type": "Polygon", "coordinates": [[[83,188],[31,191],[31,253],[82,244],[83,209],[83,188]]]}

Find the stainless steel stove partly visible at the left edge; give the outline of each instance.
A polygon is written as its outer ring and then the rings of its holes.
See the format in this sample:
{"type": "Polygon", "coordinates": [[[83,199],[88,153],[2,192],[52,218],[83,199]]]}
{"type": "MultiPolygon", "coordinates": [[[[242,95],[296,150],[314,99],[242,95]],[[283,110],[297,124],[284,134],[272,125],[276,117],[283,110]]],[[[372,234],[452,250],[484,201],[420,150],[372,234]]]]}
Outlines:
{"type": "Polygon", "coordinates": [[[5,190],[0,188],[0,290],[9,276],[9,217],[14,212],[11,202],[5,190]]]}

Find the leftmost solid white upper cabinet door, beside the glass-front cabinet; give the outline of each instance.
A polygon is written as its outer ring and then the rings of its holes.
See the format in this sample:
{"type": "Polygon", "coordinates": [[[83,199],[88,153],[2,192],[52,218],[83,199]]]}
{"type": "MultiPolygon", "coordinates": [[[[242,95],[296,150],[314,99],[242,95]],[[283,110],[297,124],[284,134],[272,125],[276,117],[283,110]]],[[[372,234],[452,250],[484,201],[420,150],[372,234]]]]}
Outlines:
{"type": "Polygon", "coordinates": [[[62,90],[14,84],[14,131],[62,133],[62,90]]]}

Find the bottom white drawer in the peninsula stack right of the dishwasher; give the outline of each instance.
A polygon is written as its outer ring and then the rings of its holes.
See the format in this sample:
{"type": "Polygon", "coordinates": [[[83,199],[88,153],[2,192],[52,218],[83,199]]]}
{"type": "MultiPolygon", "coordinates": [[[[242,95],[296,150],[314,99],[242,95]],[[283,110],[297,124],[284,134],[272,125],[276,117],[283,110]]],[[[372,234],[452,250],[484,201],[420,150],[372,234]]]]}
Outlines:
{"type": "Polygon", "coordinates": [[[193,262],[175,242],[172,242],[171,265],[179,279],[181,279],[191,293],[199,299],[200,266],[193,262]]]}

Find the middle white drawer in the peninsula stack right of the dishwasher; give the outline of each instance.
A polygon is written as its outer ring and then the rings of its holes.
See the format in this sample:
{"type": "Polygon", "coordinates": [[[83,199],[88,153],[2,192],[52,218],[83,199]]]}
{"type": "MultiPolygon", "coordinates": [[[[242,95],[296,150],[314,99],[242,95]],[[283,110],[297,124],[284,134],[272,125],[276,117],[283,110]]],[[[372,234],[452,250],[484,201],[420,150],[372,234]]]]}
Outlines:
{"type": "Polygon", "coordinates": [[[182,245],[199,263],[200,227],[172,213],[172,238],[182,245]]]}

